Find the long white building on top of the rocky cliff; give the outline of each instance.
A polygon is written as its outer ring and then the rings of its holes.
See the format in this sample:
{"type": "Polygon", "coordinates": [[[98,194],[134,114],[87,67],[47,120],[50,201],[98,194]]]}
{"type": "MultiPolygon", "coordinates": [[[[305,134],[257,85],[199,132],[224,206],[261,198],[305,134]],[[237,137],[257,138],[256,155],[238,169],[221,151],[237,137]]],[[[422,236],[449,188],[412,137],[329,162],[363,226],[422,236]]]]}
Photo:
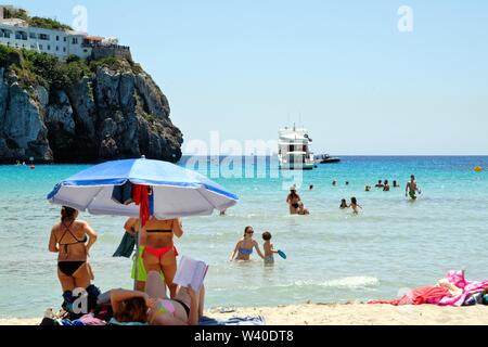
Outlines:
{"type": "Polygon", "coordinates": [[[74,54],[81,59],[124,56],[130,59],[130,49],[118,46],[117,39],[88,36],[87,33],[47,29],[30,26],[21,18],[3,18],[4,10],[16,11],[12,5],[0,5],[0,44],[35,50],[66,59],[74,54]]]}

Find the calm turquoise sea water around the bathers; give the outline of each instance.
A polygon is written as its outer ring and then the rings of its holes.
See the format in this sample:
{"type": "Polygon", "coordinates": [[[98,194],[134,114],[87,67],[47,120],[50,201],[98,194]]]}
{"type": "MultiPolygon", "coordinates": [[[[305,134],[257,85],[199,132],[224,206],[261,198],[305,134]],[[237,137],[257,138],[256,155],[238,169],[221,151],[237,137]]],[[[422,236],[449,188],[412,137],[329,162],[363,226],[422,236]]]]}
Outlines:
{"type": "MultiPolygon", "coordinates": [[[[210,165],[216,172],[218,165],[210,165]]],[[[485,280],[488,171],[474,172],[476,165],[488,169],[488,157],[344,157],[342,164],[304,172],[304,184],[314,185],[299,192],[311,215],[292,217],[283,191],[288,179],[278,177],[272,163],[271,168],[246,164],[248,174],[258,167],[268,178],[216,179],[240,195],[240,204],[224,217],[185,219],[177,247],[210,265],[209,307],[394,298],[401,288],[433,284],[451,269],[485,280]],[[411,174],[422,189],[415,203],[404,197],[411,174]],[[398,180],[402,188],[364,192],[365,184],[378,179],[398,180]],[[338,187],[332,187],[333,180],[338,187]],[[363,206],[360,216],[338,209],[341,198],[351,196],[363,206]],[[277,258],[273,268],[265,268],[256,255],[248,264],[229,262],[248,224],[260,243],[260,233],[271,231],[288,259],[277,258]]],[[[56,257],[47,250],[60,211],[46,195],[87,167],[0,166],[0,318],[39,317],[61,304],[56,257]]],[[[100,234],[90,259],[95,284],[102,291],[130,288],[130,260],[112,258],[124,218],[81,217],[100,234]]]]}

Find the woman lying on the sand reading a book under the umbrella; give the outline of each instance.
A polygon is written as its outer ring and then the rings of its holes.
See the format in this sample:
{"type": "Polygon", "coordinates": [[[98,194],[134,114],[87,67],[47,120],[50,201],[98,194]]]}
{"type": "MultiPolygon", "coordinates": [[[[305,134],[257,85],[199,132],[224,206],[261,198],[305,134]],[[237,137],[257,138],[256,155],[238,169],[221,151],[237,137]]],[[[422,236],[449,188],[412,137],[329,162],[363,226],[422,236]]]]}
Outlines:
{"type": "Polygon", "coordinates": [[[160,274],[147,274],[144,292],[113,290],[111,323],[149,323],[151,325],[197,325],[204,310],[205,287],[198,292],[178,287],[174,299],[166,296],[160,274]]]}

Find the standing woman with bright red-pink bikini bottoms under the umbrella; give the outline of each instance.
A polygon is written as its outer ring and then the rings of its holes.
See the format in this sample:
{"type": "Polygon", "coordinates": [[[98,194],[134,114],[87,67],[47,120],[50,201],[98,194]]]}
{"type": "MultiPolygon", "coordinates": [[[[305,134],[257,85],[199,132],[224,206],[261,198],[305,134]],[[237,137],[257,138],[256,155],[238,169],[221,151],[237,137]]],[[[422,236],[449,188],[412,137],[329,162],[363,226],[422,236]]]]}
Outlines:
{"type": "Polygon", "coordinates": [[[178,250],[172,243],[174,235],[183,235],[181,219],[150,219],[141,232],[141,245],[144,246],[142,258],[145,270],[163,272],[171,298],[176,296],[177,286],[172,283],[177,271],[178,250]]]}

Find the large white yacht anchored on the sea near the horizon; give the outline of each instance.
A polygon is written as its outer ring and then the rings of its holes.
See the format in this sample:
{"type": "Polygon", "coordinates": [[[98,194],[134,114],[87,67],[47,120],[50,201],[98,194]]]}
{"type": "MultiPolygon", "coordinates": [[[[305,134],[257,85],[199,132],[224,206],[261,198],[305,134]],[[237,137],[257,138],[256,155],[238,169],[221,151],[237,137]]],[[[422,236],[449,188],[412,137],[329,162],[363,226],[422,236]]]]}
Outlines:
{"type": "Polygon", "coordinates": [[[316,166],[307,129],[285,127],[279,132],[278,159],[282,170],[311,170],[316,166]]]}

